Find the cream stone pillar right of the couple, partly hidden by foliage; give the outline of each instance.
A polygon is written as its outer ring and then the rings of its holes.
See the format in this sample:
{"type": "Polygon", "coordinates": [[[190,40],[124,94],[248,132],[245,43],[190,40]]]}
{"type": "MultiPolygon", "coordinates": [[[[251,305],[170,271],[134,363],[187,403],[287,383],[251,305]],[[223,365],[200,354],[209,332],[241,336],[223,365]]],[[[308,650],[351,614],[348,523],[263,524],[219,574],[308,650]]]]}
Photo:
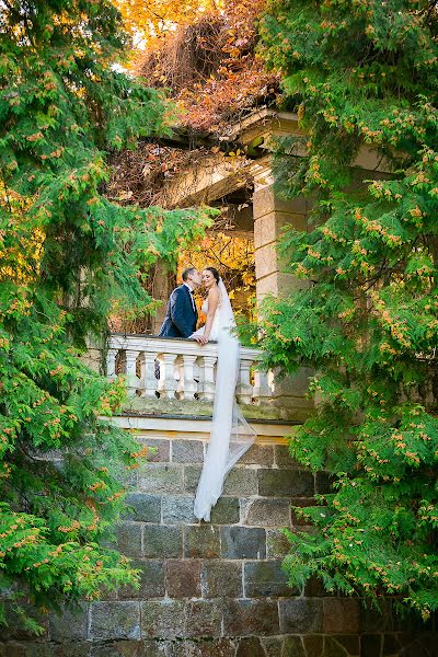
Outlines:
{"type": "MultiPolygon", "coordinates": [[[[257,304],[266,295],[280,297],[291,289],[304,289],[309,286],[302,280],[283,270],[284,266],[277,253],[281,229],[291,224],[298,230],[307,230],[308,200],[300,196],[293,200],[283,200],[274,191],[274,178],[269,172],[254,180],[254,246],[257,304]]],[[[301,368],[293,377],[278,380],[274,372],[274,397],[276,406],[287,408],[288,416],[304,419],[313,404],[304,397],[308,377],[311,370],[301,368]]],[[[285,411],[286,417],[286,411],[285,411]]]]}

